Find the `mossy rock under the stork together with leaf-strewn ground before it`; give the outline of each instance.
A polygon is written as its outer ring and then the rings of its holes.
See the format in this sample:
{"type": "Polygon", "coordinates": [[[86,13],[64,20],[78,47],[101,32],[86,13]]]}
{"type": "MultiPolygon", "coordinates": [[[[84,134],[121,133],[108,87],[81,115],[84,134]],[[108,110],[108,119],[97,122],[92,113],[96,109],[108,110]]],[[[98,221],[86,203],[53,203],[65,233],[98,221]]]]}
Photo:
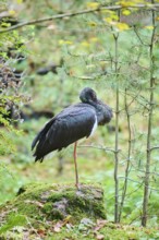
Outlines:
{"type": "Polygon", "coordinates": [[[114,225],[106,219],[99,185],[38,183],[21,188],[0,208],[0,239],[159,239],[158,229],[114,225]]]}

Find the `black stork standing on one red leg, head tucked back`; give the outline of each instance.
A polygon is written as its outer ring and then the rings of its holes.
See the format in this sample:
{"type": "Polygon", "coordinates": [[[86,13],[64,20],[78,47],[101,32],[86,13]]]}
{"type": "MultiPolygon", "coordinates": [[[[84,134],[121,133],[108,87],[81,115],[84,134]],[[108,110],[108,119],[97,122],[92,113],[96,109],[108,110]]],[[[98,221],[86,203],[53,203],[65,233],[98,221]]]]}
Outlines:
{"type": "Polygon", "coordinates": [[[96,92],[85,87],[81,94],[82,103],[71,105],[53,117],[34,139],[32,149],[35,148],[35,161],[44,160],[44,157],[52,151],[61,151],[70,144],[74,144],[74,165],[76,187],[78,189],[78,172],[76,164],[77,141],[93,134],[97,125],[110,122],[111,108],[97,98],[96,92]]]}

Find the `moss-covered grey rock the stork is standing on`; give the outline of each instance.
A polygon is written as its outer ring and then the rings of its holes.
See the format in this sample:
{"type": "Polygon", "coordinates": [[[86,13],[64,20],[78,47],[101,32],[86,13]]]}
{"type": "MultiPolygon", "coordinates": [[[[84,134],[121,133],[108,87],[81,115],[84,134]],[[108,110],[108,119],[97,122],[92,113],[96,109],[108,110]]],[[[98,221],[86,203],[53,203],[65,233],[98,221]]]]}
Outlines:
{"type": "Polygon", "coordinates": [[[103,191],[99,185],[36,183],[21,188],[19,195],[0,207],[1,223],[13,215],[37,220],[57,220],[71,217],[73,223],[83,218],[106,218],[103,191]]]}

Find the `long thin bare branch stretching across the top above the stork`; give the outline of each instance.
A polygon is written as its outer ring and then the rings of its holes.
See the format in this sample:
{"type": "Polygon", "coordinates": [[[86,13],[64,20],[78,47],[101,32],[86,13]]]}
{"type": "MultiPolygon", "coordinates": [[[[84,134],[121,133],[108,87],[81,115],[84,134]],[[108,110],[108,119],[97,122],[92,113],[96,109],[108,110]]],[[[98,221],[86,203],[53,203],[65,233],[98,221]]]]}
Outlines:
{"type": "MultiPolygon", "coordinates": [[[[145,10],[148,10],[148,11],[149,10],[159,11],[159,3],[156,3],[156,4],[134,4],[134,5],[126,7],[126,9],[127,8],[129,9],[138,8],[138,9],[145,9],[145,10]]],[[[42,17],[42,19],[38,19],[38,20],[25,21],[25,22],[16,24],[14,26],[1,29],[0,34],[7,33],[7,32],[11,32],[11,31],[14,31],[14,29],[17,29],[17,28],[21,28],[23,26],[35,25],[35,24],[38,24],[38,23],[49,22],[49,21],[52,21],[52,20],[64,19],[64,17],[82,15],[82,14],[87,14],[87,13],[91,13],[91,12],[96,12],[96,11],[100,11],[100,10],[112,10],[112,11],[115,11],[115,10],[120,10],[120,9],[125,9],[125,7],[124,5],[99,7],[99,8],[96,8],[96,9],[81,10],[78,12],[69,12],[69,13],[52,15],[52,16],[49,16],[49,17],[42,17]]]]}

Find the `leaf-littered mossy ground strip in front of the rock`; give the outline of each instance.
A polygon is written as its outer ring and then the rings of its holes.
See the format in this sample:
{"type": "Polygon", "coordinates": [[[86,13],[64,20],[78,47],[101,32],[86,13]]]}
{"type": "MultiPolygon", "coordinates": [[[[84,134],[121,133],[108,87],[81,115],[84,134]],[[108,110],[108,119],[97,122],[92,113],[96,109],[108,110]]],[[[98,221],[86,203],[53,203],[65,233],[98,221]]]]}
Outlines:
{"type": "Polygon", "coordinates": [[[93,221],[83,218],[78,224],[71,224],[69,218],[63,221],[47,221],[35,228],[27,223],[8,229],[0,237],[1,240],[34,239],[34,240],[158,240],[157,228],[142,228],[125,225],[115,225],[107,220],[93,221]]]}

